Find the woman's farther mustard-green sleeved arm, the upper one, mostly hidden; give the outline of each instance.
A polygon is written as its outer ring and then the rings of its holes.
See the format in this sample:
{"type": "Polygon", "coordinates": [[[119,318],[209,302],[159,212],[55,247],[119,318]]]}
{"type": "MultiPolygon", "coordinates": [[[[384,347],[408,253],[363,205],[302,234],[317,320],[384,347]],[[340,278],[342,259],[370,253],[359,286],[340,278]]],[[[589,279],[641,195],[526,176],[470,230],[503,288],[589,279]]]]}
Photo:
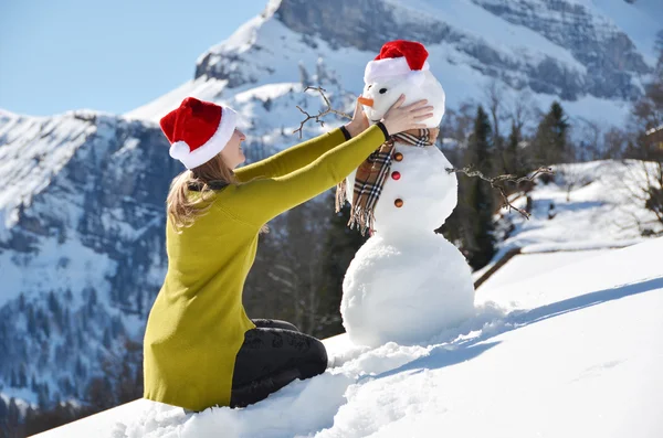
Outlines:
{"type": "Polygon", "coordinates": [[[346,141],[343,130],[334,129],[303,143],[292,146],[281,152],[235,170],[240,182],[256,178],[278,178],[311,163],[323,153],[346,141]]]}

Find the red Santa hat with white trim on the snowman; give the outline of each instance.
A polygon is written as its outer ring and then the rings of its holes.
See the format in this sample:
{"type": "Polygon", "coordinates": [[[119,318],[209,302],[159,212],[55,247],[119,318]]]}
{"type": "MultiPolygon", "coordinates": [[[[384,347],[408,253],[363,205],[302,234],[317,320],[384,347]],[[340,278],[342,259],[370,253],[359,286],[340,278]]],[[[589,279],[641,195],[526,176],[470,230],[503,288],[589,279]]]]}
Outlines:
{"type": "Polygon", "coordinates": [[[379,77],[406,76],[421,85],[423,71],[430,70],[428,52],[417,41],[396,40],[385,43],[380,54],[366,65],[364,82],[366,84],[379,77]]]}

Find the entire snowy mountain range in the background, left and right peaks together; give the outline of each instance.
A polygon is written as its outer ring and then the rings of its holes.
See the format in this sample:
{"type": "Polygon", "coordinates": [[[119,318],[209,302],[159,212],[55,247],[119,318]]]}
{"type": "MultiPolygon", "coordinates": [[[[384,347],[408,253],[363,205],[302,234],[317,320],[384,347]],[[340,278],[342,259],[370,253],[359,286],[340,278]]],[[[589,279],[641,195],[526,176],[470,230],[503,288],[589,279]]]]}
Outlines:
{"type": "Polygon", "coordinates": [[[320,108],[304,86],[349,111],[366,62],[411,39],[427,44],[451,108],[496,78],[506,105],[527,92],[541,108],[561,99],[572,120],[620,124],[652,72],[657,17],[659,0],[270,1],[199,57],[192,79],[127,115],[0,111],[0,392],[80,397],[140,335],[182,170],[156,122],[185,96],[235,108],[260,158],[298,141],[296,105],[320,108]]]}

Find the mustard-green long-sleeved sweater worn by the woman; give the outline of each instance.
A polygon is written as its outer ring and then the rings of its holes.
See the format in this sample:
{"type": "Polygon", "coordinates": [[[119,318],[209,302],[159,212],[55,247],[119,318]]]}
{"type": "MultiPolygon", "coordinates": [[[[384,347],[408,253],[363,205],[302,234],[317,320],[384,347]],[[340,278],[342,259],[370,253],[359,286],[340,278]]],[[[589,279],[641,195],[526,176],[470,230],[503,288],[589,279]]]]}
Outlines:
{"type": "Polygon", "coordinates": [[[348,141],[335,129],[238,169],[242,183],[214,192],[181,233],[167,223],[168,271],[145,332],[145,398],[191,410],[230,404],[235,356],[255,327],[242,290],[259,231],[339,183],[383,141],[378,126],[348,141]]]}

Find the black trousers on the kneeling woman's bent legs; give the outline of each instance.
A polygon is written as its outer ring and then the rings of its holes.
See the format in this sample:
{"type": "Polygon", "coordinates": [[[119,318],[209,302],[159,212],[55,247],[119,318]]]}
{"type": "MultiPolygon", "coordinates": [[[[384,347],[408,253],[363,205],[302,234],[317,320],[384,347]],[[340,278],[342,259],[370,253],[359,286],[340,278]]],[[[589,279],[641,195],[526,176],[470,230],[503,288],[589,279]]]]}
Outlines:
{"type": "Polygon", "coordinates": [[[309,378],[327,367],[327,351],[317,339],[283,329],[246,331],[235,359],[231,406],[264,399],[295,378],[309,378]]]}

